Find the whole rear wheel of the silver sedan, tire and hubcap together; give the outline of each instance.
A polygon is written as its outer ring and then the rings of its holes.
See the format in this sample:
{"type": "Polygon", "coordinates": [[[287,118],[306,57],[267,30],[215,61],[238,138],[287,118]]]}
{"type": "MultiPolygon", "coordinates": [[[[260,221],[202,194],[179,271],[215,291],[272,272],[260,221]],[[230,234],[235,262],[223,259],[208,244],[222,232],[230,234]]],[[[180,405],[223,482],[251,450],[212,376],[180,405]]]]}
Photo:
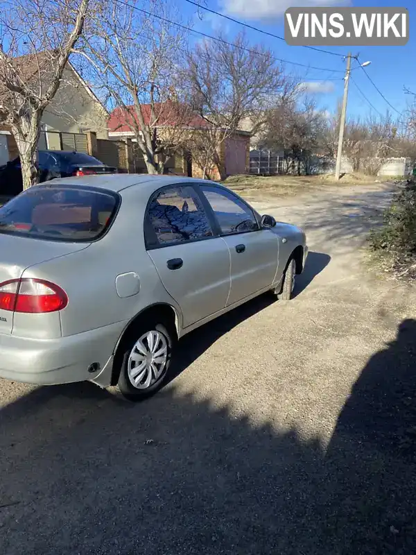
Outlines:
{"type": "Polygon", "coordinates": [[[119,390],[131,401],[154,395],[164,384],[171,362],[173,334],[162,324],[137,325],[125,343],[119,390]]]}

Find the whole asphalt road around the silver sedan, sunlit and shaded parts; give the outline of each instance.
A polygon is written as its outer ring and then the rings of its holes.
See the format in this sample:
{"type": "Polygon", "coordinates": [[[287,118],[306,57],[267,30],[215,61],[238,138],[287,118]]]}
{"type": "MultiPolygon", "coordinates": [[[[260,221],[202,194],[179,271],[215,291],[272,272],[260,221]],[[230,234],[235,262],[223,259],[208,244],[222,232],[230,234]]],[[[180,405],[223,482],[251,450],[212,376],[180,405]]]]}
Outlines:
{"type": "Polygon", "coordinates": [[[308,234],[295,299],[187,336],[147,402],[0,381],[0,553],[415,553],[416,296],[361,253],[389,196],[257,205],[308,234]]]}

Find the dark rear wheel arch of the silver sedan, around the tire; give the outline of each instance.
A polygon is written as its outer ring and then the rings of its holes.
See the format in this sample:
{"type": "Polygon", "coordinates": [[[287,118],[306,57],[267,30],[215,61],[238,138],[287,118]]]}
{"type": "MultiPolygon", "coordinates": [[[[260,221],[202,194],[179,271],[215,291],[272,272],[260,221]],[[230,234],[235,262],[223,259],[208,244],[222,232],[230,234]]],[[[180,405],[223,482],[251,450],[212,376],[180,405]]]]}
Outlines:
{"type": "Polygon", "coordinates": [[[173,334],[173,338],[177,340],[180,336],[180,315],[178,314],[177,310],[172,306],[169,305],[167,302],[156,302],[154,305],[150,305],[140,312],[138,312],[130,322],[125,326],[123,332],[119,337],[119,341],[117,341],[116,346],[113,351],[114,361],[112,365],[112,377],[111,377],[111,385],[115,386],[119,381],[119,374],[121,368],[121,362],[123,359],[123,352],[126,343],[130,341],[132,337],[132,333],[137,326],[137,323],[142,319],[148,318],[160,318],[159,323],[166,326],[166,328],[173,334]]]}

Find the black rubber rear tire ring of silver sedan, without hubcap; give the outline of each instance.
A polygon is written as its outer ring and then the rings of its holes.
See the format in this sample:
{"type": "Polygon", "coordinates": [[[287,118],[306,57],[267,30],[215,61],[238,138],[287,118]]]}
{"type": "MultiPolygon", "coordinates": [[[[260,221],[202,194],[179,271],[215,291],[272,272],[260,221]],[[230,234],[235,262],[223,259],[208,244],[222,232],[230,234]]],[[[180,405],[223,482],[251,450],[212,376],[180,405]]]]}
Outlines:
{"type": "Polygon", "coordinates": [[[164,386],[164,383],[166,382],[166,376],[168,375],[168,369],[171,364],[173,345],[175,343],[174,338],[175,336],[173,332],[169,332],[168,327],[165,327],[164,324],[157,321],[146,321],[146,323],[140,323],[135,327],[134,332],[130,334],[128,341],[126,341],[123,347],[122,356],[120,357],[121,368],[119,382],[117,386],[119,387],[119,391],[123,395],[123,397],[133,402],[142,401],[144,399],[148,399],[152,395],[155,395],[155,393],[157,393],[157,391],[159,391],[159,389],[164,386]],[[153,330],[159,332],[159,334],[162,334],[162,336],[166,340],[166,363],[161,375],[159,375],[159,377],[157,377],[157,379],[153,383],[151,383],[146,388],[137,388],[132,384],[132,381],[129,377],[129,357],[132,353],[135,343],[142,336],[144,336],[144,334],[147,334],[148,332],[153,330]]]}

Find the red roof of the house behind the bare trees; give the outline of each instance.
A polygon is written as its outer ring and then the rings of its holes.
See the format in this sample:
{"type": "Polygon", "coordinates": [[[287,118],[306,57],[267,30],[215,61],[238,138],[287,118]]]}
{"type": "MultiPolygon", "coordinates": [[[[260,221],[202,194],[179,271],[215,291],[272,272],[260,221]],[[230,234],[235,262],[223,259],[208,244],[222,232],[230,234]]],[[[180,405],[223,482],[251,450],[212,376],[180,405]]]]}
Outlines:
{"type": "MultiPolygon", "coordinates": [[[[143,114],[145,125],[148,126],[152,116],[151,105],[142,104],[141,113],[143,114]]],[[[128,106],[127,110],[125,108],[115,108],[108,119],[108,130],[110,133],[130,132],[132,130],[130,126],[134,123],[135,119],[137,121],[134,106],[128,106]]],[[[153,119],[157,119],[155,125],[161,127],[180,126],[199,129],[209,126],[207,120],[200,115],[192,112],[184,105],[172,102],[155,103],[153,107],[153,119]]]]}

